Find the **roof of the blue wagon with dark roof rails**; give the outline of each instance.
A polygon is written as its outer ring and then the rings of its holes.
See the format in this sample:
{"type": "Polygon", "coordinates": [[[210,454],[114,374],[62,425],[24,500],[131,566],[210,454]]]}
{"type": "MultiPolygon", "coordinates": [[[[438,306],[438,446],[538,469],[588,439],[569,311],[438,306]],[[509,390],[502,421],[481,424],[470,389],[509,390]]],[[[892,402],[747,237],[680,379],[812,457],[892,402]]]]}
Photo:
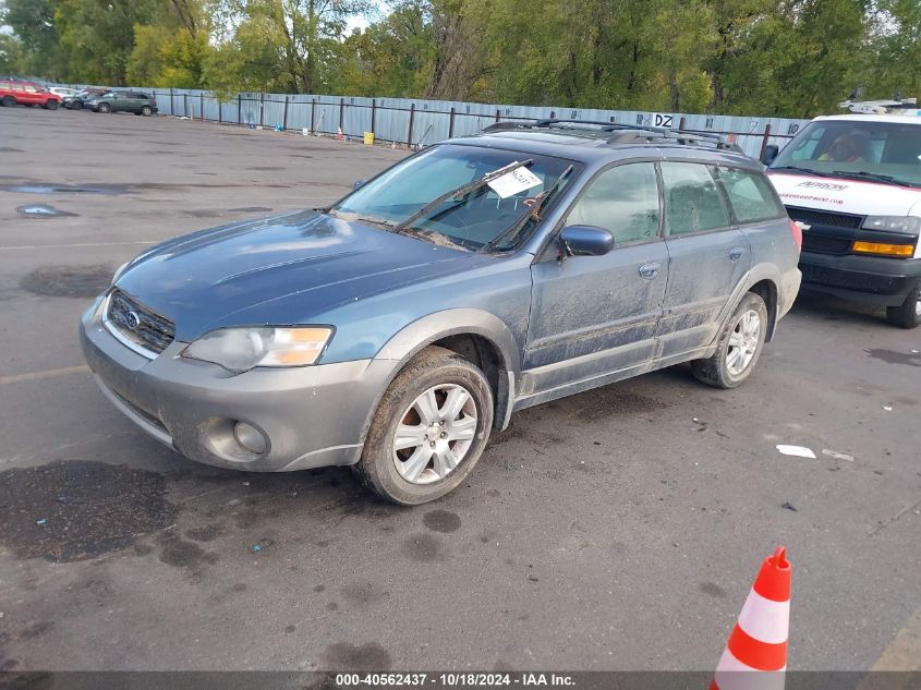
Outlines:
{"type": "Polygon", "coordinates": [[[763,168],[754,158],[734,150],[681,144],[677,141],[663,142],[657,140],[653,143],[618,141],[617,132],[602,132],[599,130],[504,130],[460,136],[447,140],[443,144],[482,146],[518,150],[538,156],[556,156],[585,165],[598,165],[623,158],[652,157],[722,162],[759,170],[763,168]]]}

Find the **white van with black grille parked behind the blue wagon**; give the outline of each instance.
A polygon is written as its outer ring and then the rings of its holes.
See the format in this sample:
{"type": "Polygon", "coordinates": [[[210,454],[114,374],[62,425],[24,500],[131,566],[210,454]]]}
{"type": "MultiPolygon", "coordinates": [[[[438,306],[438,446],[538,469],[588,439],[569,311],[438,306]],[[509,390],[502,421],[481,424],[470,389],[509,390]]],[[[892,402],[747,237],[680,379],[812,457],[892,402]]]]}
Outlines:
{"type": "Polygon", "coordinates": [[[901,105],[899,111],[815,118],[779,154],[767,147],[763,162],[803,230],[803,290],[885,306],[889,323],[914,328],[921,323],[921,111],[901,105]]]}

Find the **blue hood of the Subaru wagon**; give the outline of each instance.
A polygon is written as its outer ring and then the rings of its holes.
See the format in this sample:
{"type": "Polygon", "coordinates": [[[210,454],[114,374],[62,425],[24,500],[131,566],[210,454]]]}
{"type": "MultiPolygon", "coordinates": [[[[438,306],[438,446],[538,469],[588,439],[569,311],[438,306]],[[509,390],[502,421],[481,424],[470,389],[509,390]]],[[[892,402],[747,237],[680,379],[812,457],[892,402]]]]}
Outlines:
{"type": "Polygon", "coordinates": [[[116,286],[171,318],[177,339],[187,341],[213,327],[266,325],[258,318],[258,305],[282,298],[291,305],[288,324],[310,323],[344,303],[487,261],[360,222],[299,211],[169,240],[131,262],[116,286]]]}

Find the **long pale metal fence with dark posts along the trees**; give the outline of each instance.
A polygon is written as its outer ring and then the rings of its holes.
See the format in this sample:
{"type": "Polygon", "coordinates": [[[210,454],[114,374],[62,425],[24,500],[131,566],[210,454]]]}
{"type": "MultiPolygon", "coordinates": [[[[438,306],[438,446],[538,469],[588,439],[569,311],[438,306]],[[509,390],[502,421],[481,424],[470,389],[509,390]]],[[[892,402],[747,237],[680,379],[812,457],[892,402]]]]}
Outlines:
{"type": "Polygon", "coordinates": [[[380,142],[416,147],[452,136],[478,132],[502,121],[568,118],[644,124],[735,135],[748,155],[759,157],[767,144],[781,147],[809,120],[645,112],[638,110],[593,110],[542,106],[497,106],[450,100],[407,98],[363,98],[324,95],[245,93],[220,102],[209,92],[180,88],[137,88],[153,93],[159,111],[195,120],[279,126],[314,134],[337,134],[361,138],[374,132],[380,142]]]}

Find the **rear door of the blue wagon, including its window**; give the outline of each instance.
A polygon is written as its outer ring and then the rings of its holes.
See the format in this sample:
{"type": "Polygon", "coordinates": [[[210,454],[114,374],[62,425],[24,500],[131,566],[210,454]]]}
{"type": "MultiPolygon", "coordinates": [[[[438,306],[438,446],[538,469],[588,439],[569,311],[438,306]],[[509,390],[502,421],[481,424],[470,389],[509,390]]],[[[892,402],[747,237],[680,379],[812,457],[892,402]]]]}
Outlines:
{"type": "Polygon", "coordinates": [[[719,313],[751,267],[751,247],[712,166],[663,161],[661,170],[669,261],[659,356],[680,360],[715,338],[719,313]]]}

